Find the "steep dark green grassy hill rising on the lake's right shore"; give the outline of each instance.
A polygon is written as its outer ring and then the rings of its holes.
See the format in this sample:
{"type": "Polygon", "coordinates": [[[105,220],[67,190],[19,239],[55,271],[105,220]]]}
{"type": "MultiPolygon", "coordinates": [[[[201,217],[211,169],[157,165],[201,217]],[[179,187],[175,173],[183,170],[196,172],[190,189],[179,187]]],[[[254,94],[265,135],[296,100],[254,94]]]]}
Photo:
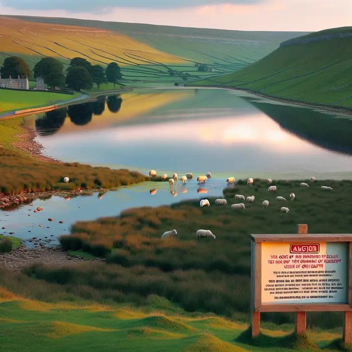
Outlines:
{"type": "Polygon", "coordinates": [[[248,89],[272,97],[352,108],[352,27],[315,32],[242,70],[197,82],[248,89]]]}

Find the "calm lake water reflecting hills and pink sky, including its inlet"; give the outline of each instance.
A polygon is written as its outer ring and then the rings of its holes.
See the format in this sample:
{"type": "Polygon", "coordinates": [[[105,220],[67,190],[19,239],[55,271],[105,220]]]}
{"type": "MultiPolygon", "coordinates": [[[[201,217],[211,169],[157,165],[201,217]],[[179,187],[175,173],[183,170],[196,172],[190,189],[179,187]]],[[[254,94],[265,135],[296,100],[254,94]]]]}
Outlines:
{"type": "Polygon", "coordinates": [[[131,207],[221,197],[230,176],[350,179],[351,117],[216,89],[134,91],[30,116],[26,125],[37,130],[46,155],[146,174],[155,169],[179,177],[193,172],[197,178],[211,172],[213,178],[206,186],[195,180],[187,186],[178,182],[174,196],[168,184],[145,183],[101,199],[94,194],[37,200],[33,207],[0,212],[0,228],[21,238],[55,239],[77,220],[116,216],[131,207]],[[151,195],[153,188],[157,192],[151,195]],[[28,210],[38,206],[44,210],[28,210]],[[55,221],[49,222],[50,217],[55,221]]]}

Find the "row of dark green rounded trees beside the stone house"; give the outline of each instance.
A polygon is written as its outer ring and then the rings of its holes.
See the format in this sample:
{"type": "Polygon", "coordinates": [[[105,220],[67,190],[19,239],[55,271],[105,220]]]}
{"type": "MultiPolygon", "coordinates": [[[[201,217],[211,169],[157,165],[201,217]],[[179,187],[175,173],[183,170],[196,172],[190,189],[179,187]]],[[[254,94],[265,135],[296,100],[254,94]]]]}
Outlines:
{"type": "Polygon", "coordinates": [[[97,84],[98,89],[101,84],[108,82],[113,83],[115,88],[122,78],[120,66],[116,62],[109,63],[104,69],[101,65],[92,65],[82,57],[74,57],[65,72],[61,61],[54,57],[44,57],[35,64],[32,72],[22,57],[10,56],[0,67],[0,75],[3,78],[43,77],[44,82],[52,88],[67,85],[74,91],[91,90],[94,83],[97,84]]]}

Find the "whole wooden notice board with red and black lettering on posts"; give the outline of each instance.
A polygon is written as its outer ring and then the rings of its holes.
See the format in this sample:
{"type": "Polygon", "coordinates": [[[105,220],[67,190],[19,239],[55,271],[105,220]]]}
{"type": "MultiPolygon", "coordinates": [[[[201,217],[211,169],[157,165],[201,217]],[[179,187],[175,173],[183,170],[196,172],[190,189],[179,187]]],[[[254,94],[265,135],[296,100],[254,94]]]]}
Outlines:
{"type": "Polygon", "coordinates": [[[352,342],[352,234],[257,234],[251,237],[251,329],[260,312],[296,312],[306,332],[307,311],[343,311],[343,341],[352,342]]]}

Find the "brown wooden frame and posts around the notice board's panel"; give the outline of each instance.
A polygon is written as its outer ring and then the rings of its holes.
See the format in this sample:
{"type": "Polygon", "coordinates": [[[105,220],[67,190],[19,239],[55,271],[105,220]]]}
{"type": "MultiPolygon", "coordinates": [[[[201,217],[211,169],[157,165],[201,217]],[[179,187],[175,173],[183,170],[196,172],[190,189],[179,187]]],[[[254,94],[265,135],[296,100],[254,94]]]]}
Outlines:
{"type": "Polygon", "coordinates": [[[352,234],[308,234],[307,225],[297,225],[297,234],[254,234],[251,238],[251,327],[252,337],[260,331],[260,312],[296,312],[296,333],[306,331],[307,311],[343,311],[343,340],[352,342],[352,234]],[[348,297],[341,303],[265,303],[261,301],[261,255],[262,243],[314,243],[314,242],[347,242],[347,288],[348,297]]]}

